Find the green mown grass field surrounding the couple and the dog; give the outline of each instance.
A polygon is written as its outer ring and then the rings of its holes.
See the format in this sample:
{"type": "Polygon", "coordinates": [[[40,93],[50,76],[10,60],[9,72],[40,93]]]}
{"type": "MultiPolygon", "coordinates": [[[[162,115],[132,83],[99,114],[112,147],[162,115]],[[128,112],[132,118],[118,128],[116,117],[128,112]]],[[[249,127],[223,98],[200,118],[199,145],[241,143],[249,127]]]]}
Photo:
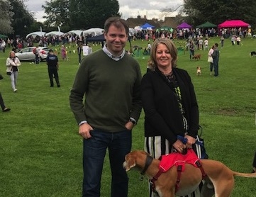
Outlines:
{"type": "MultiPolygon", "coordinates": [[[[219,43],[209,39],[209,46],[219,43]]],[[[183,40],[174,40],[183,46],[183,40]]],[[[235,171],[250,172],[255,152],[256,113],[256,40],[242,39],[242,46],[232,46],[226,39],[220,48],[219,77],[210,76],[208,51],[196,50],[201,60],[190,61],[189,52],[179,52],[178,67],[187,69],[194,83],[199,103],[200,125],[211,159],[235,171]],[[200,65],[201,76],[196,76],[200,65]]],[[[148,42],[132,41],[146,47],[148,42]]],[[[100,48],[92,46],[93,50],[100,48]]],[[[57,52],[60,47],[52,47],[57,52]]],[[[127,46],[128,48],[128,46],[127,46]]],[[[75,45],[69,45],[69,61],[60,57],[60,88],[50,88],[45,62],[39,65],[22,62],[17,93],[6,75],[6,53],[0,52],[1,94],[9,113],[0,113],[0,196],[5,197],[73,197],[81,196],[82,138],[69,108],[69,91],[77,72],[75,45]]],[[[145,74],[149,56],[135,55],[145,74]]],[[[143,150],[143,118],[133,130],[133,150],[143,150]]],[[[108,157],[104,165],[101,196],[110,196],[111,176],[108,157]]],[[[140,181],[138,171],[128,171],[129,196],[148,196],[148,181],[140,181]]],[[[255,196],[255,179],[235,178],[232,196],[255,196]]]]}

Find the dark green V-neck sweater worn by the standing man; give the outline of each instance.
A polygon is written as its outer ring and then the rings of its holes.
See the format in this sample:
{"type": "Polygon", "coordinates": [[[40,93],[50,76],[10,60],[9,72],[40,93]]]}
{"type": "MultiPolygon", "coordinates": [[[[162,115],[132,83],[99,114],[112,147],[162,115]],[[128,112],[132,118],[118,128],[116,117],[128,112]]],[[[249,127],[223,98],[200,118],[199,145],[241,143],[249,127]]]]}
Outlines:
{"type": "Polygon", "coordinates": [[[125,130],[130,117],[138,121],[140,116],[140,80],[140,66],[127,53],[118,61],[103,50],[84,57],[69,96],[77,123],[87,120],[92,128],[108,132],[125,130]]]}

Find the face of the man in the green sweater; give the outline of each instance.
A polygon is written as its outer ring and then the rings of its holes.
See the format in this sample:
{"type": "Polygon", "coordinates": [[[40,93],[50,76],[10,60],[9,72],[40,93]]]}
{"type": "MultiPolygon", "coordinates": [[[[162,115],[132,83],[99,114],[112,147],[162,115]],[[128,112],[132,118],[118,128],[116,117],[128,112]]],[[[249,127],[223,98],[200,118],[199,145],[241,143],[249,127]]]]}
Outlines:
{"type": "Polygon", "coordinates": [[[128,39],[125,28],[116,28],[116,26],[111,25],[108,28],[108,33],[105,33],[104,36],[108,50],[113,55],[121,55],[128,39]]]}

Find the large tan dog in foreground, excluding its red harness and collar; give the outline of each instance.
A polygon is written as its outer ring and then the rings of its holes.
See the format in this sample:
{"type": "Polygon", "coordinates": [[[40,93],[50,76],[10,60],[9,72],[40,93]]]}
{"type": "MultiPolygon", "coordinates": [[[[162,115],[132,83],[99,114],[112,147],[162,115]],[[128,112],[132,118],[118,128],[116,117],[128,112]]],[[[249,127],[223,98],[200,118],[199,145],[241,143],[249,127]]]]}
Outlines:
{"type": "MultiPolygon", "coordinates": [[[[132,167],[136,167],[139,171],[143,171],[147,157],[149,157],[149,154],[141,150],[130,152],[126,154],[126,161],[123,162],[123,168],[129,171],[132,167]]],[[[232,171],[226,167],[226,165],[218,161],[210,159],[200,159],[200,161],[208,179],[211,179],[213,183],[215,197],[228,197],[231,195],[235,184],[234,176],[256,178],[256,173],[243,174],[232,171]]],[[[159,165],[160,160],[152,159],[152,163],[148,166],[148,169],[146,169],[145,174],[152,179],[159,171],[159,165]]],[[[177,167],[173,166],[158,177],[155,181],[155,190],[160,197],[174,197],[175,195],[186,196],[193,192],[202,180],[202,173],[199,168],[191,164],[185,164],[185,169],[180,177],[179,189],[177,193],[175,193],[177,176],[177,167]]]]}

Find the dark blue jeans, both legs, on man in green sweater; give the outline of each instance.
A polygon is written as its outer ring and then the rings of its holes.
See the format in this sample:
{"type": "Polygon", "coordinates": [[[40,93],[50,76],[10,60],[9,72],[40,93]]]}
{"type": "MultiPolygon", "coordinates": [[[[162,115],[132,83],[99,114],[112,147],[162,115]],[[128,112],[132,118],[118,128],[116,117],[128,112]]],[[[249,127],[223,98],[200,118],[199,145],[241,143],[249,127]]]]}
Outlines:
{"type": "Polygon", "coordinates": [[[108,133],[104,130],[91,130],[91,138],[84,139],[84,197],[100,196],[101,174],[106,149],[108,148],[111,166],[111,196],[128,196],[128,176],[123,169],[126,154],[131,149],[131,130],[108,133]]]}

